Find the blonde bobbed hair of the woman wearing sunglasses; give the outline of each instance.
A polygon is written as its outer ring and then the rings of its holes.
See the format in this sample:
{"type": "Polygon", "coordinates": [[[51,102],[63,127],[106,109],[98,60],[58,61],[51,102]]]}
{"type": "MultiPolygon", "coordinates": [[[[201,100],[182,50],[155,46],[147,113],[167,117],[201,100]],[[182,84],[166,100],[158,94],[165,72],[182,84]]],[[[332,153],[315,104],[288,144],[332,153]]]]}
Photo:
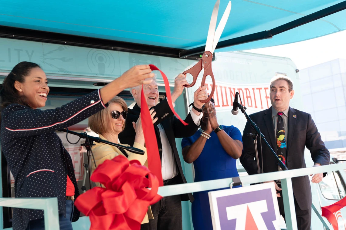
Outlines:
{"type": "MultiPolygon", "coordinates": [[[[108,103],[109,105],[112,103],[120,104],[122,109],[124,111],[127,111],[127,104],[125,100],[122,99],[121,97],[115,96],[108,103]]],[[[91,115],[91,117],[89,117],[88,119],[89,128],[97,134],[102,134],[107,132],[107,129],[109,127],[109,125],[107,124],[107,116],[110,116],[110,112],[111,111],[109,111],[109,107],[107,107],[91,115]]],[[[125,124],[126,122],[124,122],[124,125],[122,126],[122,130],[125,129],[125,124]]]]}

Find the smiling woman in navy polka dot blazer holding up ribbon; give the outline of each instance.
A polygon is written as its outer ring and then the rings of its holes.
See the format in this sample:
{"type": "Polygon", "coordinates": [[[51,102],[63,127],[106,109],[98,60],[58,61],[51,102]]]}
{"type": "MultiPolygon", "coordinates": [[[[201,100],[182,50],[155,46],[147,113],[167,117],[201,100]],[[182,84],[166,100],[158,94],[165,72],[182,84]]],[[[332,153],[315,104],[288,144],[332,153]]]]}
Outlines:
{"type": "MultiPolygon", "coordinates": [[[[70,154],[55,131],[106,108],[122,90],[148,84],[152,77],[148,65],[134,66],[102,89],[40,110],[49,93],[46,74],[35,63],[18,63],[0,91],[1,148],[15,178],[16,197],[57,197],[60,229],[72,229],[71,222],[79,218],[73,205],[79,191],[70,154]]],[[[43,211],[15,208],[12,225],[13,230],[44,229],[43,211]]]]}

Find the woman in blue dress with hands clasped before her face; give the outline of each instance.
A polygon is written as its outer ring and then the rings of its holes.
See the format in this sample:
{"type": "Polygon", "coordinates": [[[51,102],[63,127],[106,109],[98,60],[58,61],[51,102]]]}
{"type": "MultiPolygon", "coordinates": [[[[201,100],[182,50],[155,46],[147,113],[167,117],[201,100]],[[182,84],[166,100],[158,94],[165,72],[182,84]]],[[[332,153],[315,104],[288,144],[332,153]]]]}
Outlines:
{"type": "MultiPolygon", "coordinates": [[[[243,150],[242,134],[234,126],[219,126],[214,101],[203,109],[201,129],[181,142],[184,161],[192,163],[195,182],[238,177],[236,159],[243,150]]],[[[192,223],[195,230],[212,230],[209,191],[194,192],[192,223]]]]}

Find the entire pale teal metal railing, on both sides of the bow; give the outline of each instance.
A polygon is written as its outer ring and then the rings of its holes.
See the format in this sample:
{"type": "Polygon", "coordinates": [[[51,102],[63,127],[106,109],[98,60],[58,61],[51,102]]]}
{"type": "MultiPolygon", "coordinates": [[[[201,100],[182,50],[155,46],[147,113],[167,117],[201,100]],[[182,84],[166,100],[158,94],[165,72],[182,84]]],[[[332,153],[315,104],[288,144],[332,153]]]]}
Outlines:
{"type": "MultiPolygon", "coordinates": [[[[288,171],[270,172],[264,174],[255,174],[251,176],[240,177],[243,184],[252,184],[264,181],[281,179],[282,195],[285,210],[285,222],[288,230],[297,230],[297,220],[295,219],[294,198],[292,189],[293,177],[306,176],[310,174],[339,171],[346,169],[346,163],[330,164],[328,166],[319,166],[312,168],[293,169],[288,171]],[[293,207],[293,208],[292,208],[293,207]]],[[[221,188],[229,188],[233,182],[232,178],[201,181],[186,184],[175,184],[160,187],[158,194],[161,196],[173,196],[190,192],[199,192],[221,188]]],[[[45,230],[59,229],[59,214],[57,198],[0,198],[0,206],[13,208],[40,209],[44,211],[45,230]]],[[[326,229],[330,229],[327,223],[320,215],[315,206],[313,211],[317,214],[326,229]]]]}

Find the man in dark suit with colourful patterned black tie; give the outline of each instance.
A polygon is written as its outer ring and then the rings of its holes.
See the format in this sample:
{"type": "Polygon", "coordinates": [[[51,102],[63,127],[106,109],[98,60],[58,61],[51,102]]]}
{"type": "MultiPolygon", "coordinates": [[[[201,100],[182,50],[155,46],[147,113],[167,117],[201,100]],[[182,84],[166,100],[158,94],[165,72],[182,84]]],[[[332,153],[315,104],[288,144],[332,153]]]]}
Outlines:
{"type": "MultiPolygon", "coordinates": [[[[329,151],[317,130],[311,115],[289,107],[290,99],[293,98],[294,90],[291,80],[285,77],[274,79],[270,84],[270,100],[272,107],[261,112],[251,114],[251,119],[258,125],[268,143],[277,153],[280,160],[288,169],[306,168],[304,149],[307,147],[311,152],[314,166],[329,164],[329,151]]],[[[247,136],[254,133],[249,122],[246,123],[243,133],[244,150],[240,162],[248,174],[257,173],[255,147],[253,139],[247,136]]],[[[258,138],[258,143],[260,138],[258,138]]],[[[264,142],[263,166],[261,152],[259,151],[260,170],[263,172],[275,172],[281,170],[276,159],[269,151],[264,142]]],[[[313,183],[319,183],[325,175],[315,174],[313,183]]],[[[268,181],[274,182],[274,181],[268,181]]],[[[311,188],[308,176],[292,178],[295,212],[298,229],[310,230],[311,225],[311,188]]],[[[285,218],[280,181],[275,181],[279,209],[285,218]]]]}

